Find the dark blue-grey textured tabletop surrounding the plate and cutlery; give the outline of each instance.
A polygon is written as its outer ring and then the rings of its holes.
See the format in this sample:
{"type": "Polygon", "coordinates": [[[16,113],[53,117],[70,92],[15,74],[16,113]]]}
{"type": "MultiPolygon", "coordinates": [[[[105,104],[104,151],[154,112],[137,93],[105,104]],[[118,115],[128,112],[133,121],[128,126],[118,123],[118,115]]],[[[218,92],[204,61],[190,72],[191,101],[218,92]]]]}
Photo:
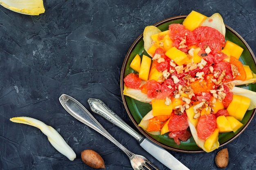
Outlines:
{"type": "MultiPolygon", "coordinates": [[[[44,0],[45,13],[27,16],[0,6],[0,169],[92,170],[81,161],[85,149],[97,151],[107,170],[131,170],[128,157],[101,134],[76,121],[60,105],[65,93],[88,107],[99,98],[133,128],[120,92],[120,72],[132,42],[144,27],[191,10],[220,13],[256,54],[255,0],[44,0]],[[37,128],[12,123],[30,116],[55,128],[77,154],[69,161],[37,128]]],[[[95,114],[94,114],[95,115],[95,114]]],[[[95,118],[120,143],[167,168],[135,139],[103,118],[95,118]]],[[[226,145],[227,170],[256,169],[256,121],[226,145]]],[[[220,150],[222,148],[219,148],[220,150]]],[[[191,170],[217,170],[211,153],[169,151],[191,170]]]]}

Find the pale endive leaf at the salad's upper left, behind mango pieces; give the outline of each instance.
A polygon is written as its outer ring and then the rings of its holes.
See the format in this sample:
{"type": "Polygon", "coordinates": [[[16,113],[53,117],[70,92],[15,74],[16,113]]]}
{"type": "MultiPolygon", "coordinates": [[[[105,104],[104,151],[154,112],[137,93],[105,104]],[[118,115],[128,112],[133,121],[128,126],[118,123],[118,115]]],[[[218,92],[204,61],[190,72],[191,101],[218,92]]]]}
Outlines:
{"type": "Polygon", "coordinates": [[[150,47],[153,45],[151,36],[159,32],[162,32],[162,31],[153,25],[145,27],[143,31],[143,40],[144,40],[144,49],[146,50],[146,52],[148,52],[148,49],[150,49],[150,47]]]}

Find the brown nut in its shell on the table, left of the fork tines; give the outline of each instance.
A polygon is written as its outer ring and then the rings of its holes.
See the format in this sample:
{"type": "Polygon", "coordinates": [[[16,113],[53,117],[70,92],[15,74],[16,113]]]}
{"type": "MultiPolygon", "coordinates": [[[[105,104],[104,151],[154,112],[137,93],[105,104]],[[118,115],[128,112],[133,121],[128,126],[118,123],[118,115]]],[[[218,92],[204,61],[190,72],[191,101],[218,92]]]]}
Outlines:
{"type": "Polygon", "coordinates": [[[83,163],[92,168],[105,168],[104,160],[94,150],[83,150],[81,152],[81,159],[83,163]]]}

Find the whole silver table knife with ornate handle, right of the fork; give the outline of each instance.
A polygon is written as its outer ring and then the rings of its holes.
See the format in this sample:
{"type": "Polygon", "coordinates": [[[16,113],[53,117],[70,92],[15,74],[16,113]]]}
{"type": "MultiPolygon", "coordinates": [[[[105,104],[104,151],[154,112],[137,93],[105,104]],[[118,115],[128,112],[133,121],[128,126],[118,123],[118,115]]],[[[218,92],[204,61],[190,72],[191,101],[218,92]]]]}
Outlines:
{"type": "Polygon", "coordinates": [[[139,142],[139,145],[141,145],[144,150],[150,153],[158,161],[163,163],[166,167],[170,168],[171,170],[189,170],[189,168],[184,166],[179,160],[173,157],[173,155],[167,152],[164,148],[153,143],[152,141],[132,129],[119,116],[117,116],[117,114],[110,110],[105,105],[105,103],[103,103],[103,101],[96,98],[89,98],[88,103],[92,112],[103,116],[105,119],[130,134],[139,142]]]}

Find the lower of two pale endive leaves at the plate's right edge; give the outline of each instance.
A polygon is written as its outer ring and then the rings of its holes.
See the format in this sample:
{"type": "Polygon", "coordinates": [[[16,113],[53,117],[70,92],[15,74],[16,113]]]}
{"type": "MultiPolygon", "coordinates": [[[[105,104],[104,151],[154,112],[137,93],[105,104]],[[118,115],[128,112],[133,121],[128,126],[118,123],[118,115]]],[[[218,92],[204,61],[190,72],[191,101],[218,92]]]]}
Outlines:
{"type": "Polygon", "coordinates": [[[241,87],[233,87],[230,91],[233,92],[233,94],[245,96],[251,100],[248,110],[256,108],[256,92],[241,87]]]}

